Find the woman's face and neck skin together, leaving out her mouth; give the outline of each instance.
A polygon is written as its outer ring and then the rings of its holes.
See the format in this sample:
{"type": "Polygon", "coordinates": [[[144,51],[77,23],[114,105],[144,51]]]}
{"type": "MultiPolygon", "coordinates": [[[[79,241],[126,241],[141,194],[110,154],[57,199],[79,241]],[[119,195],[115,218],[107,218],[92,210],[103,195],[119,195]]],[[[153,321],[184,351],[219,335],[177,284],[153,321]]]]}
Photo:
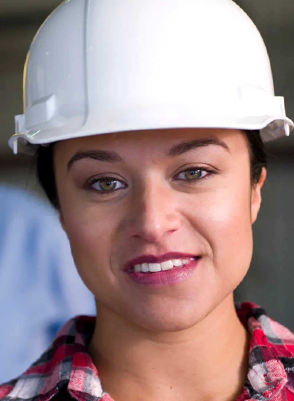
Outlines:
{"type": "Polygon", "coordinates": [[[264,169],[252,186],[244,134],[77,138],[55,145],[54,166],[60,220],[96,298],[89,352],[103,389],[115,401],[234,400],[247,377],[249,335],[233,290],[249,268],[266,178],[264,169]],[[130,260],[170,252],[199,257],[187,279],[146,286],[126,274],[130,260]]]}

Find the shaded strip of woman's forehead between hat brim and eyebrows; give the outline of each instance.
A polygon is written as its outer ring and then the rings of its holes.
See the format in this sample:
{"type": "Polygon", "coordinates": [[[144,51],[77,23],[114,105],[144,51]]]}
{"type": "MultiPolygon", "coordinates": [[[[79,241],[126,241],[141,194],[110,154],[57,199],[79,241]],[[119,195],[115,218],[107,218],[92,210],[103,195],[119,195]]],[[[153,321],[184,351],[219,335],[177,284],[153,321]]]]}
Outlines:
{"type": "Polygon", "coordinates": [[[179,128],[116,132],[86,136],[57,143],[57,153],[73,156],[76,152],[93,149],[112,150],[124,155],[164,153],[172,146],[185,141],[215,139],[224,142],[232,151],[246,147],[244,134],[239,130],[179,128]]]}

